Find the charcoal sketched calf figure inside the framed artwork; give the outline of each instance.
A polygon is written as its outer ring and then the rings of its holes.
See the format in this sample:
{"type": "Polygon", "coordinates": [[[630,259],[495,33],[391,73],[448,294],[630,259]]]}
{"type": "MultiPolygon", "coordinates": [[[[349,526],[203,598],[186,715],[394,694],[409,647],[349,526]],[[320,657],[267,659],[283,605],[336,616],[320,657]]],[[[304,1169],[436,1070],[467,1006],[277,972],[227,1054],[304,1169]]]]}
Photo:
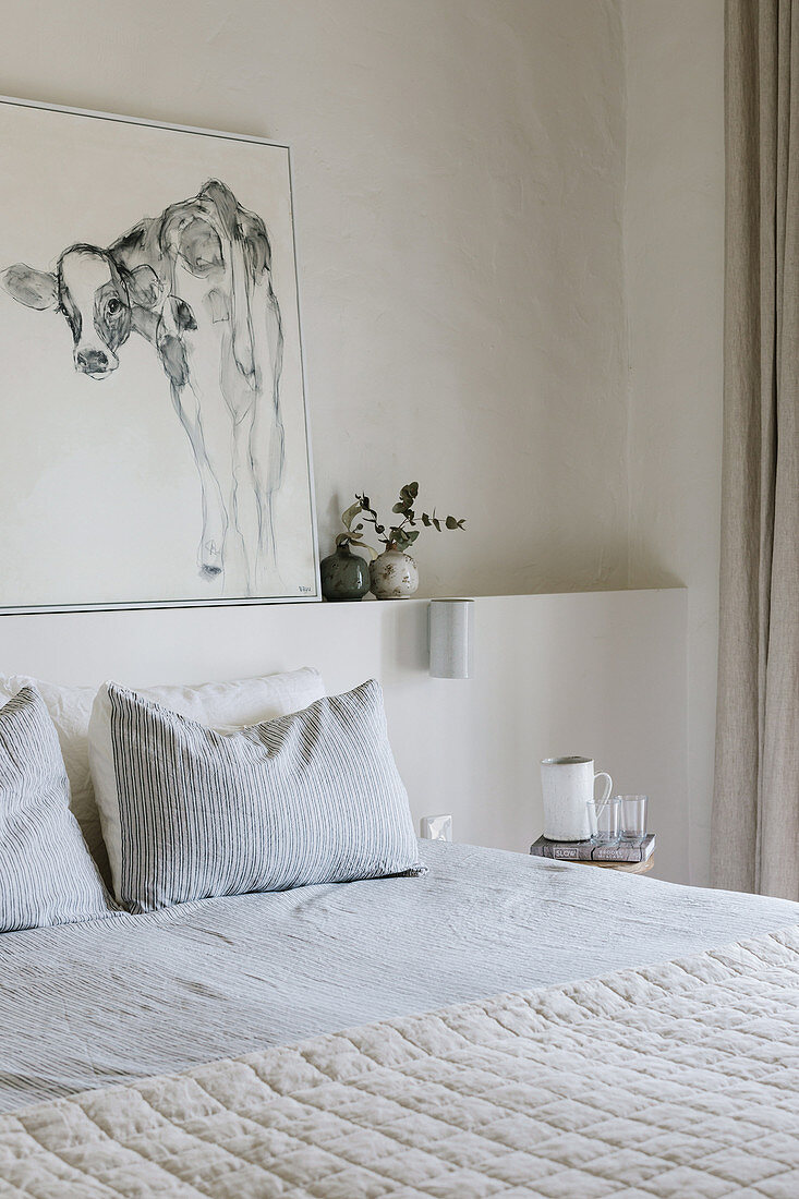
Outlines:
{"type": "Polygon", "coordinates": [[[276,571],[272,504],[283,474],[281,311],[264,222],[224,183],[145,217],[107,248],[70,246],[54,273],[0,275],[19,303],[60,312],[76,370],[107,379],[131,332],[163,367],[199,472],[200,576],[238,561],[248,595],[276,571]]]}

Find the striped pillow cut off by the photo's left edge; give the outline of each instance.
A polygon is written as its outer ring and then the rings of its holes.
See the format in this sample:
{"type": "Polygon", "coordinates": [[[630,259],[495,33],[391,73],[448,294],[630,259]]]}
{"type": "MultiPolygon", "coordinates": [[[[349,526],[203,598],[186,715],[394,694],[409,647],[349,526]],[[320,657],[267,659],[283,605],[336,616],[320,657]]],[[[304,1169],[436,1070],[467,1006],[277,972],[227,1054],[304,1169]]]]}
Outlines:
{"type": "Polygon", "coordinates": [[[113,911],[70,812],[70,788],[44,700],[23,687],[0,709],[0,932],[113,911]]]}

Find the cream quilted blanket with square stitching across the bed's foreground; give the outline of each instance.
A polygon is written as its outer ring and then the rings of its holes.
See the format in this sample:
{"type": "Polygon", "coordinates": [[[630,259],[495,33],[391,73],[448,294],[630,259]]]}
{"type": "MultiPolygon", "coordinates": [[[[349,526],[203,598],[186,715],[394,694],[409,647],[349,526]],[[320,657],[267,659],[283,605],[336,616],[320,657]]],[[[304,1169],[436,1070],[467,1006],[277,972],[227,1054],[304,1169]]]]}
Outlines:
{"type": "Polygon", "coordinates": [[[0,1117],[0,1195],[799,1195],[799,928],[0,1117]]]}

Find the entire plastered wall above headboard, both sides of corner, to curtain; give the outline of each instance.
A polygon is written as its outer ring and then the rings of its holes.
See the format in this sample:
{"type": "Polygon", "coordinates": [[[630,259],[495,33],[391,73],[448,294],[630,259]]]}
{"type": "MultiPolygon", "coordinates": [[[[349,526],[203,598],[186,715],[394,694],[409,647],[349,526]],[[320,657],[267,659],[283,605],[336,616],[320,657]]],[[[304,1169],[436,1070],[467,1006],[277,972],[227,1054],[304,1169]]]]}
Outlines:
{"type": "Polygon", "coordinates": [[[715,707],[722,10],[0,0],[6,94],[292,145],[323,548],[356,488],[385,505],[415,477],[469,530],[420,546],[422,594],[687,585],[696,881],[715,707]]]}

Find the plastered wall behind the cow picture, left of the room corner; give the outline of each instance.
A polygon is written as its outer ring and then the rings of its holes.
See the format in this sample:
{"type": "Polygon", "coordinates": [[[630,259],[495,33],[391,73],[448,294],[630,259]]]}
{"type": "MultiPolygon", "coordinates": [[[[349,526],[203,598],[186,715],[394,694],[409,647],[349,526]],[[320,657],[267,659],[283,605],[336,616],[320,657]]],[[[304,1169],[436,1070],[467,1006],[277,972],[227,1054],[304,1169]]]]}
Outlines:
{"type": "Polygon", "coordinates": [[[615,0],[0,17],[6,94],[292,146],[324,552],[355,490],[390,508],[417,480],[468,518],[420,543],[422,594],[625,585],[615,0]]]}

